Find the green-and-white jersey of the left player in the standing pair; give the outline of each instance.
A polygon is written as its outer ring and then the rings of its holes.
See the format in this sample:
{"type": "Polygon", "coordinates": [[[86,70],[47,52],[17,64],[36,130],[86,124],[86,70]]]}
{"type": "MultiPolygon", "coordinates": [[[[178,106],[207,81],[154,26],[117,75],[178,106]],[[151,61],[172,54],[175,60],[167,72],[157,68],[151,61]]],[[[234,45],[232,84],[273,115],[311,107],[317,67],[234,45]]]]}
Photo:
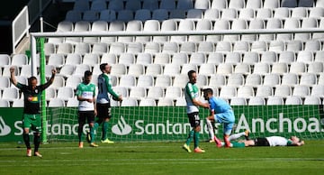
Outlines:
{"type": "MultiPolygon", "coordinates": [[[[84,97],[86,99],[91,99],[95,96],[95,85],[89,83],[85,85],[84,82],[80,83],[76,88],[76,96],[84,97]]],[[[94,111],[94,103],[89,103],[87,101],[79,101],[78,106],[79,111],[94,111]]]]}

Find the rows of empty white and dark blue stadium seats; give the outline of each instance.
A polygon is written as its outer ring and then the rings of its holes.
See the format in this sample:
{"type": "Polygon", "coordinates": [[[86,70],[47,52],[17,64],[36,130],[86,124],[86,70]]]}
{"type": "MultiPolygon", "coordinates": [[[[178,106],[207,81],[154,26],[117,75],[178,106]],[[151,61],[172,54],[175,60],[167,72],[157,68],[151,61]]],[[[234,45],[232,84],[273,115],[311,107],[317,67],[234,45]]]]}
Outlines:
{"type": "MultiPolygon", "coordinates": [[[[185,32],[324,26],[324,4],[312,0],[82,2],[85,1],[76,1],[66,19],[58,23],[57,32],[185,32]]],[[[49,106],[76,106],[72,102],[73,90],[63,91],[63,88],[76,88],[85,69],[100,74],[99,64],[103,62],[112,65],[114,88],[126,88],[121,106],[183,106],[182,88],[190,69],[198,72],[200,87],[219,89],[220,97],[229,99],[231,105],[321,104],[322,41],[320,32],[49,38],[45,44],[47,64],[58,69],[51,86],[53,91],[48,92],[48,97],[53,98],[49,99],[49,106]],[[60,103],[55,98],[65,101],[60,103]]],[[[23,81],[23,77],[31,75],[31,61],[24,54],[0,54],[0,61],[1,98],[12,103],[20,97],[4,95],[7,90],[15,91],[8,82],[9,68],[15,66],[16,76],[23,81]]]]}

